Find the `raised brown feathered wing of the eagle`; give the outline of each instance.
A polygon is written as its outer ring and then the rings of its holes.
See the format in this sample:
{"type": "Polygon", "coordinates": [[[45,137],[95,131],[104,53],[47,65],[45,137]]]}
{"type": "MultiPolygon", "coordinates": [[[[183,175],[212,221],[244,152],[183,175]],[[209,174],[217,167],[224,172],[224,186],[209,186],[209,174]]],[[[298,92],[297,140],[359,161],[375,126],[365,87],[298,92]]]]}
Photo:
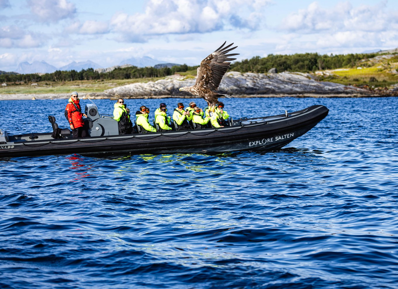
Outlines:
{"type": "Polygon", "coordinates": [[[217,48],[213,53],[202,60],[199,68],[197,69],[197,78],[194,86],[206,87],[208,89],[217,91],[225,72],[230,67],[232,60],[231,56],[238,55],[239,53],[227,54],[237,46],[229,48],[234,43],[224,47],[226,41],[217,48]],[[229,49],[228,49],[229,48],[229,49]]]}

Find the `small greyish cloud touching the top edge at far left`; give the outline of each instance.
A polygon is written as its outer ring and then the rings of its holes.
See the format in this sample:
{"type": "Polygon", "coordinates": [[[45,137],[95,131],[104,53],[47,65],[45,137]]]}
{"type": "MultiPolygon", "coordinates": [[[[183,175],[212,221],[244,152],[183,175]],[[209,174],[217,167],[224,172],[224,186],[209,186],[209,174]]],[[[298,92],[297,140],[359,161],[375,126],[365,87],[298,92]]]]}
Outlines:
{"type": "Polygon", "coordinates": [[[27,0],[27,4],[40,22],[57,22],[76,14],[75,5],[67,0],[27,0]]]}

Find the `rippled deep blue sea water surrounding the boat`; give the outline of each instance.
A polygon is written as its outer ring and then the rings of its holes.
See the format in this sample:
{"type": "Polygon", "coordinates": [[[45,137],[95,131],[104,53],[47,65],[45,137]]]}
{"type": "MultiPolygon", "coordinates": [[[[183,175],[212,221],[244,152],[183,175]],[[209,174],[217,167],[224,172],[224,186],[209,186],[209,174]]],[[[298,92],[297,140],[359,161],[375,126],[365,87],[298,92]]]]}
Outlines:
{"type": "MultiPolygon", "coordinates": [[[[397,99],[224,103],[330,112],[267,153],[0,159],[0,288],[398,288],[397,99]]],[[[1,105],[11,134],[67,127],[66,100],[1,105]]]]}

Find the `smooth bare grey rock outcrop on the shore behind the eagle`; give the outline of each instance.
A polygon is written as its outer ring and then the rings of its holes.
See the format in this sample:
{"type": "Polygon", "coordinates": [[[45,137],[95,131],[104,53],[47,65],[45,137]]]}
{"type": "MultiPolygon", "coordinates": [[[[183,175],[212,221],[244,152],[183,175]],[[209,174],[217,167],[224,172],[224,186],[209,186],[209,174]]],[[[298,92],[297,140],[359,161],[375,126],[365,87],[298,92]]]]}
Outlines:
{"type": "MultiPolygon", "coordinates": [[[[133,83],[114,87],[104,91],[108,97],[160,97],[178,96],[185,97],[191,94],[180,92],[179,88],[193,85],[195,78],[185,78],[174,75],[168,78],[150,81],[147,83],[133,83]]],[[[327,81],[316,81],[316,78],[307,73],[281,72],[278,74],[258,74],[228,72],[222,79],[219,87],[220,93],[230,95],[371,95],[371,91],[354,86],[346,86],[327,81]]],[[[90,94],[95,97],[94,94],[90,94]]]]}

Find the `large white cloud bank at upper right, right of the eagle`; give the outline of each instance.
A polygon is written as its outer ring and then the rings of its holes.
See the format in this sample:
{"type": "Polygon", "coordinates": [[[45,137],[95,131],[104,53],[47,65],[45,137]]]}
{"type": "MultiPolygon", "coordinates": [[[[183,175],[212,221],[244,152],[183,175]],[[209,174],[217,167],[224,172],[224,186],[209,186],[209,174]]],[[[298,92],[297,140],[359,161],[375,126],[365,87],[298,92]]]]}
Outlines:
{"type": "Polygon", "coordinates": [[[374,6],[352,6],[341,2],[323,8],[312,2],[307,8],[281,21],[279,31],[289,37],[277,43],[278,53],[298,51],[347,53],[373,48],[397,47],[398,11],[388,10],[387,2],[374,6]]]}

